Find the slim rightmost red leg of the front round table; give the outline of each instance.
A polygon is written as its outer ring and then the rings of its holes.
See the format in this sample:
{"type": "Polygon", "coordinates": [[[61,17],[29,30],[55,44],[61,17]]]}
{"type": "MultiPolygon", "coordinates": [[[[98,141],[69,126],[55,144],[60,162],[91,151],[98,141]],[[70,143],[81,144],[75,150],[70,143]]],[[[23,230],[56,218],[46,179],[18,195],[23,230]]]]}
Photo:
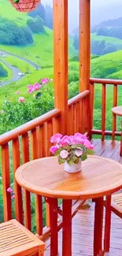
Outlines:
{"type": "Polygon", "coordinates": [[[104,237],[105,252],[109,252],[110,228],[111,228],[111,195],[108,195],[106,196],[106,200],[105,200],[105,237],[104,237]]]}

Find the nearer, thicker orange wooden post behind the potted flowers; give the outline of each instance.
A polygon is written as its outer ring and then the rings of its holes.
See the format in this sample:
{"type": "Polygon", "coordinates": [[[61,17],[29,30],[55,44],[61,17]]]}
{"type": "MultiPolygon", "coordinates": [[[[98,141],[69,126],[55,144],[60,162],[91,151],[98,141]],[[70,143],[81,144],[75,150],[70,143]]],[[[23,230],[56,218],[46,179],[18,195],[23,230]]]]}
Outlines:
{"type": "Polygon", "coordinates": [[[67,132],[68,0],[54,0],[54,103],[61,109],[60,129],[67,132]]]}

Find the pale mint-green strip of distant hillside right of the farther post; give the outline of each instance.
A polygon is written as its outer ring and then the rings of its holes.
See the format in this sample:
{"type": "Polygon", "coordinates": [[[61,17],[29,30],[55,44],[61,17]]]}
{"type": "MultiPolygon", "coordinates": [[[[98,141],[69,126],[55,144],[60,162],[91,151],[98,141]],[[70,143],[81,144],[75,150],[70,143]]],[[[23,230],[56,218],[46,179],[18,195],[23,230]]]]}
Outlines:
{"type": "Polygon", "coordinates": [[[122,39],[116,39],[114,37],[96,35],[96,33],[91,33],[92,41],[102,41],[105,40],[105,43],[113,43],[116,46],[116,50],[122,50],[122,39]]]}

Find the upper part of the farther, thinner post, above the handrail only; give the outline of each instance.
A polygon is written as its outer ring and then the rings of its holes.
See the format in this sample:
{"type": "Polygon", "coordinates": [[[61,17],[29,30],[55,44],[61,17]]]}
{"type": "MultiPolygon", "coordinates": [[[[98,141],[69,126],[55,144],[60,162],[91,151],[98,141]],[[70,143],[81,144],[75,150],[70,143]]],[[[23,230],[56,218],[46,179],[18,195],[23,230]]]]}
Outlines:
{"type": "Polygon", "coordinates": [[[79,0],[79,92],[90,90],[91,0],[79,0]]]}

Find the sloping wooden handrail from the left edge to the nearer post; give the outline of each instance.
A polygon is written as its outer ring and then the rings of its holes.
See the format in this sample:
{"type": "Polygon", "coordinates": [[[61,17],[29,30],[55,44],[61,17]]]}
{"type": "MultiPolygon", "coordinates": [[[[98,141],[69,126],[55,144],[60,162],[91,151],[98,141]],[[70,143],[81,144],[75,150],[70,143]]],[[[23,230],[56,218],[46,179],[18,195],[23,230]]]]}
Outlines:
{"type": "Polygon", "coordinates": [[[35,127],[43,124],[46,121],[49,121],[51,118],[59,116],[61,111],[59,109],[53,109],[48,113],[43,114],[41,117],[37,117],[34,120],[29,121],[28,123],[20,125],[20,127],[15,128],[9,132],[0,135],[0,146],[5,143],[9,143],[10,140],[17,138],[17,136],[23,135],[26,132],[31,131],[35,127]]]}

